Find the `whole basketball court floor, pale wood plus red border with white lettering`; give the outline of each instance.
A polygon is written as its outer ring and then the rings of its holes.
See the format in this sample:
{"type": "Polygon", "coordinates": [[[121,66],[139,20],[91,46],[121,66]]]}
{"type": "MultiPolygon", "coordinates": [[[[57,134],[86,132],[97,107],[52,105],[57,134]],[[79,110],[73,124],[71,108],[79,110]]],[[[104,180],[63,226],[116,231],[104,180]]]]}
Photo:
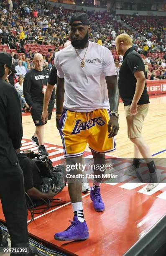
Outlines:
{"type": "MultiPolygon", "coordinates": [[[[150,98],[149,112],[143,127],[143,138],[151,148],[153,156],[163,159],[158,166],[161,173],[166,172],[166,95],[150,98]]],[[[133,157],[133,145],[127,136],[127,125],[123,103],[119,106],[120,130],[116,136],[117,150],[107,154],[107,158],[118,158],[117,167],[123,167],[123,158],[133,157]]],[[[56,129],[55,113],[45,126],[44,141],[53,165],[61,163],[63,148],[59,132],[56,129]]],[[[30,139],[34,133],[31,115],[23,114],[22,149],[37,152],[30,139]]],[[[87,147],[84,158],[92,158],[87,147]]],[[[130,161],[124,168],[130,166],[130,161]]],[[[166,214],[166,183],[159,184],[150,192],[147,184],[136,183],[135,178],[124,176],[123,183],[108,183],[101,185],[101,193],[105,202],[104,212],[95,212],[89,193],[82,194],[84,216],[89,227],[89,239],[86,241],[61,242],[54,240],[54,233],[66,229],[73,218],[72,206],[67,187],[56,195],[65,203],[52,207],[43,214],[36,214],[34,221],[28,225],[29,233],[59,248],[66,255],[92,256],[122,256],[133,244],[156,224],[166,214]]],[[[91,181],[89,181],[91,182],[91,181]]],[[[0,209],[0,219],[4,220],[0,209]]],[[[28,213],[28,222],[31,215],[28,213]]]]}

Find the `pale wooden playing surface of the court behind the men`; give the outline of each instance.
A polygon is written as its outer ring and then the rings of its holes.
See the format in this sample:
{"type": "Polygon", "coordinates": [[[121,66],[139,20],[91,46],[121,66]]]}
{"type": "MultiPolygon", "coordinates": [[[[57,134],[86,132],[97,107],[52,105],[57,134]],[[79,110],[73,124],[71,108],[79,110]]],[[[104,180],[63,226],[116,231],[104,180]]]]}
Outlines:
{"type": "MultiPolygon", "coordinates": [[[[110,155],[132,158],[133,145],[127,135],[123,103],[119,104],[118,112],[120,115],[120,130],[115,137],[117,149],[111,152],[110,155]]],[[[34,130],[35,126],[31,115],[27,116],[23,114],[23,138],[31,138],[34,130]]],[[[166,95],[150,98],[149,111],[143,126],[143,138],[151,148],[152,154],[156,154],[166,149],[166,95]]],[[[55,113],[52,114],[51,120],[45,125],[44,141],[62,146],[59,131],[56,129],[55,113]]],[[[89,151],[88,146],[86,150],[89,151]]],[[[166,151],[157,154],[155,157],[164,158],[165,156],[166,151]]]]}

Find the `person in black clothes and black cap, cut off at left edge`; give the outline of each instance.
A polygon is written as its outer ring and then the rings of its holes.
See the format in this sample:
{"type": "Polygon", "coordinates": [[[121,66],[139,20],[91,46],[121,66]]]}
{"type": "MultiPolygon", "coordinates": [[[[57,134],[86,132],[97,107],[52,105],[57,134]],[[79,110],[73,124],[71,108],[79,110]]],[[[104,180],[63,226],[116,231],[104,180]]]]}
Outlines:
{"type": "MultiPolygon", "coordinates": [[[[18,157],[16,154],[16,150],[20,148],[23,136],[21,108],[15,88],[13,85],[5,82],[9,72],[15,72],[11,67],[11,64],[11,55],[1,52],[0,200],[11,238],[11,247],[20,248],[28,247],[29,242],[23,172],[18,164],[18,157]]],[[[0,231],[0,246],[2,246],[1,244],[2,233],[0,231]]]]}

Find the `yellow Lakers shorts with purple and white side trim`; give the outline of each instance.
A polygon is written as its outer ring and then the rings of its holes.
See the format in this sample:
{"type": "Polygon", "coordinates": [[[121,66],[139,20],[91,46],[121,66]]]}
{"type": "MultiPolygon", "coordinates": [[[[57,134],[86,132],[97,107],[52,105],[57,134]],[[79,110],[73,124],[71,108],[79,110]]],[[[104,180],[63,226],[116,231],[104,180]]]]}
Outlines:
{"type": "Polygon", "coordinates": [[[115,150],[115,138],[108,138],[109,120],[110,110],[108,109],[97,109],[89,113],[64,109],[59,121],[64,156],[81,156],[87,143],[89,148],[97,153],[115,150]]]}

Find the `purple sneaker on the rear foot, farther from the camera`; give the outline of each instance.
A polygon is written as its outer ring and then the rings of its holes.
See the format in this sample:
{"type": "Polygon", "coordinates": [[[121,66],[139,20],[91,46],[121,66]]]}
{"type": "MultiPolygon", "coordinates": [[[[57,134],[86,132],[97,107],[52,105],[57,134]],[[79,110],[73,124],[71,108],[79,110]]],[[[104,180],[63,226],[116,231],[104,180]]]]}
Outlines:
{"type": "Polygon", "coordinates": [[[91,187],[90,198],[93,201],[94,210],[96,210],[97,212],[103,212],[105,210],[105,205],[102,201],[102,197],[100,194],[100,187],[95,187],[94,190],[92,190],[91,187]]]}

